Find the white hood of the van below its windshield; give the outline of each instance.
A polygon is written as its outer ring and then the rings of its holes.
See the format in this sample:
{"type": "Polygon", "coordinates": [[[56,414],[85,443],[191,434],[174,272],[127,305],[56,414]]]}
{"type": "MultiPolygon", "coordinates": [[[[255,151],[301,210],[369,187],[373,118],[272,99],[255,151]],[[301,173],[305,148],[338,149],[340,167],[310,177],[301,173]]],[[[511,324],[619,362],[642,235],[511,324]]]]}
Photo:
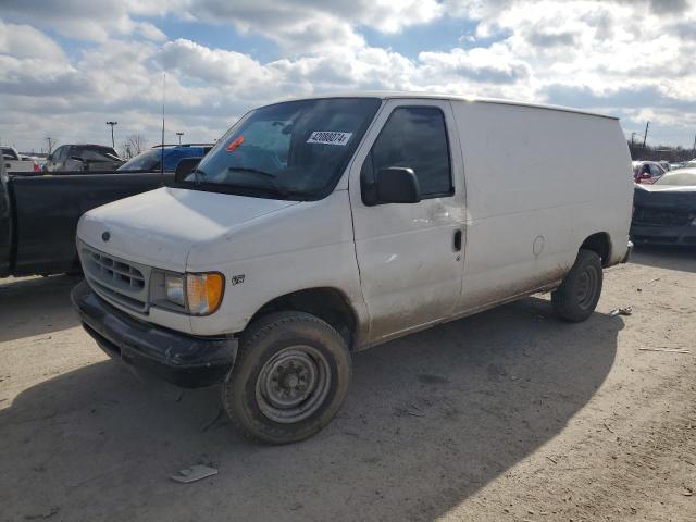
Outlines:
{"type": "Polygon", "coordinates": [[[87,212],[77,237],[116,257],[182,272],[194,245],[294,204],[297,201],[164,187],[87,212]]]}

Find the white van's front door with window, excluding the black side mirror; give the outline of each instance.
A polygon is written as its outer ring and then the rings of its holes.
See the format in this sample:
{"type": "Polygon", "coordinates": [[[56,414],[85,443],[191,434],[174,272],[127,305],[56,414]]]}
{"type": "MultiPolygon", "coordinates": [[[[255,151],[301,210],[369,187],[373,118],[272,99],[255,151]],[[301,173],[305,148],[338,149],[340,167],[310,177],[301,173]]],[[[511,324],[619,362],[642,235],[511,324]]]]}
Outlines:
{"type": "MultiPolygon", "coordinates": [[[[463,165],[446,100],[388,100],[350,170],[360,282],[376,343],[449,318],[463,275],[463,165]],[[409,167],[417,203],[365,204],[375,172],[409,167]]],[[[369,201],[369,198],[368,198],[369,201]]]]}

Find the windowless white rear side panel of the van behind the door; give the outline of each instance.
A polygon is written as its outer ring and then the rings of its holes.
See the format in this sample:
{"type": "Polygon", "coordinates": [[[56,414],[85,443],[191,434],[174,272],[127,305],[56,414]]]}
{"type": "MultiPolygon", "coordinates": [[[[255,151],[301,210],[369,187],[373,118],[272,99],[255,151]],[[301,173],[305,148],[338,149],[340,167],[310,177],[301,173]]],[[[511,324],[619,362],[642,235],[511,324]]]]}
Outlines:
{"type": "Polygon", "coordinates": [[[559,283],[594,233],[609,234],[612,260],[623,257],[632,178],[616,120],[523,105],[452,105],[468,189],[458,313],[559,283]],[[577,142],[592,154],[576,157],[577,142]]]}

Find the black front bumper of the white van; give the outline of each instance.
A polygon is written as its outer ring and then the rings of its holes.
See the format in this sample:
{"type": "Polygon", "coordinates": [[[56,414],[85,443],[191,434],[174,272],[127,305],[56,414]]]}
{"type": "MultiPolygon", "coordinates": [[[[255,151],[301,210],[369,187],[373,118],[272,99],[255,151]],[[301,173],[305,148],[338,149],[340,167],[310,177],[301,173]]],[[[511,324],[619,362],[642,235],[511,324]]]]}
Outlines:
{"type": "Polygon", "coordinates": [[[138,370],[184,388],[221,383],[237,356],[237,339],[195,337],[159,327],[117,310],[87,282],[71,293],[83,326],[102,350],[138,370]]]}

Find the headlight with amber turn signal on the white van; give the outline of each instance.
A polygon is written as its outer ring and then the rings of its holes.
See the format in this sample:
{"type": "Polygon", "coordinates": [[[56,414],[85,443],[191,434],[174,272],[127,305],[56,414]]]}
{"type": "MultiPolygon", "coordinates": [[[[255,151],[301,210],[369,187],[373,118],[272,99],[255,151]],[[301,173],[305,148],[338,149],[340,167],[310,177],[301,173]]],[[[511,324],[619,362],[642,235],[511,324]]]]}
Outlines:
{"type": "Polygon", "coordinates": [[[222,302],[225,278],[217,272],[164,274],[164,295],[191,315],[210,315],[222,302]]]}

